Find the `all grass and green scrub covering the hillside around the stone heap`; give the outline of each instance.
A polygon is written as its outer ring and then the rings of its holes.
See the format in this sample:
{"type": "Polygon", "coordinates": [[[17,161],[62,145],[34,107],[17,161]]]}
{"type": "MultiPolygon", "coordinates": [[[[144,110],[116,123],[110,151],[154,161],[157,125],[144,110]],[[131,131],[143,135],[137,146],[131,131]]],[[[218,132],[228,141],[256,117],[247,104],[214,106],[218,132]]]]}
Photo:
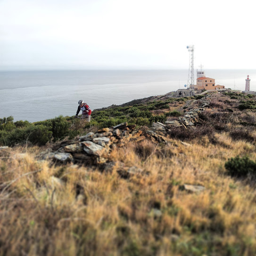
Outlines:
{"type": "Polygon", "coordinates": [[[124,121],[177,120],[198,100],[96,110],[91,124],[63,116],[33,124],[0,119],[0,143],[13,146],[0,149],[0,255],[254,256],[256,110],[239,105],[253,105],[255,96],[212,95],[196,127],[173,128],[167,143],[113,148],[111,172],[39,157],[52,146],[39,146],[46,141],[124,121]],[[122,164],[142,171],[121,177],[122,164]],[[184,184],[205,190],[192,193],[184,184]]]}

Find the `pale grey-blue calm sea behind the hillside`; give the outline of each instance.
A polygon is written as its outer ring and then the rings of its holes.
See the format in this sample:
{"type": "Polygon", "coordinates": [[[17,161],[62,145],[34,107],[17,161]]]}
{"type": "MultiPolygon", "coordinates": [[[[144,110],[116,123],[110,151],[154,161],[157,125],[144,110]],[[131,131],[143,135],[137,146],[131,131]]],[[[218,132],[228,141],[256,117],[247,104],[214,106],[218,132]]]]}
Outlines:
{"type": "MultiPolygon", "coordinates": [[[[249,75],[250,89],[256,91],[256,70],[205,73],[216,84],[241,91],[249,75]]],[[[0,71],[0,118],[37,122],[74,116],[80,99],[93,110],[184,89],[187,83],[185,69],[0,71]]]]}

